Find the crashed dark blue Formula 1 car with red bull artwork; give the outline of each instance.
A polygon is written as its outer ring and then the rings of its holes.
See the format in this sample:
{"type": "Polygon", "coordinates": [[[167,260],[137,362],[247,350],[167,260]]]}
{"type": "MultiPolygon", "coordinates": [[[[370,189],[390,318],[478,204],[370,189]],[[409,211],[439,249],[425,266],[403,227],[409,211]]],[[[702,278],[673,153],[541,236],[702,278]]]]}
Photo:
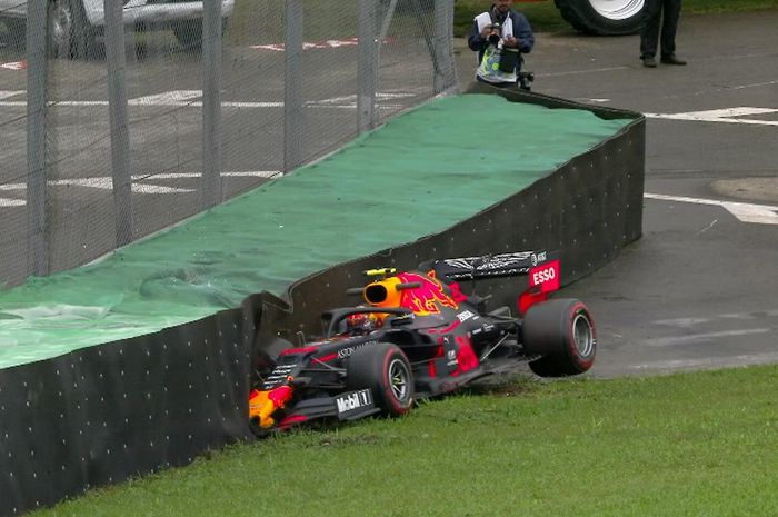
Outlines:
{"type": "MultiPolygon", "coordinates": [[[[519,362],[542,377],[587,371],[597,338],[587,307],[548,299],[560,262],[546,252],[435,260],[417,271],[366,271],[365,305],[322,315],[325,335],[287,348],[258,376],[249,397],[255,433],[320,418],[352,420],[406,414],[417,398],[453,391],[519,362]],[[526,275],[529,288],[509,307],[485,311],[485,299],[460,280],[526,275]]],[[[290,344],[291,345],[291,344],[290,344]]]]}

